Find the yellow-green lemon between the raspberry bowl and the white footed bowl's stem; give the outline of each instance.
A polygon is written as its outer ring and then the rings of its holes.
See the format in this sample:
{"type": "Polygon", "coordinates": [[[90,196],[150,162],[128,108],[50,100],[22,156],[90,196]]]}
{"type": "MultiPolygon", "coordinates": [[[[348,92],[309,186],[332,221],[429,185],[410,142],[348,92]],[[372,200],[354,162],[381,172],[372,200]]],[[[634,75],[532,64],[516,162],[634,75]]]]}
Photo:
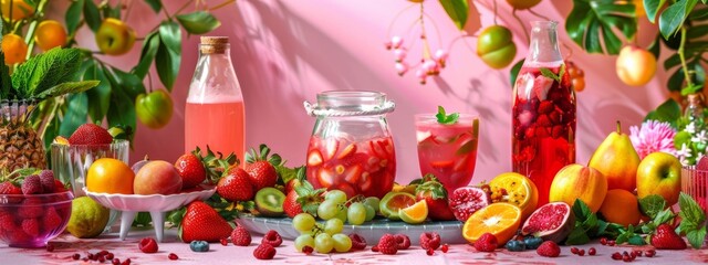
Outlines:
{"type": "Polygon", "coordinates": [[[108,223],[111,210],[88,197],[80,197],[71,203],[71,218],[66,231],[79,239],[96,237],[108,223]]]}

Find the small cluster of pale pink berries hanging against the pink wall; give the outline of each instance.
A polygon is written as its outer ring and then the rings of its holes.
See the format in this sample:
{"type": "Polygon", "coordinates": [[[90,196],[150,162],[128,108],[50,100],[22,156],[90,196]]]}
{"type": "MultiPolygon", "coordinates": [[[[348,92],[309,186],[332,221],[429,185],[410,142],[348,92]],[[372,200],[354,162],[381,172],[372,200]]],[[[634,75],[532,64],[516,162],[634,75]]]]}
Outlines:
{"type": "MultiPolygon", "coordinates": [[[[403,76],[406,74],[412,66],[406,61],[408,49],[403,45],[403,38],[397,35],[393,36],[391,38],[391,41],[387,41],[384,45],[386,46],[386,50],[393,50],[394,52],[394,59],[396,60],[395,68],[398,75],[403,76]]],[[[431,56],[424,55],[424,57],[420,59],[419,64],[413,65],[413,67],[419,66],[416,70],[416,77],[420,81],[420,84],[425,84],[428,76],[439,75],[440,70],[445,68],[447,57],[447,51],[438,49],[431,56]]]]}

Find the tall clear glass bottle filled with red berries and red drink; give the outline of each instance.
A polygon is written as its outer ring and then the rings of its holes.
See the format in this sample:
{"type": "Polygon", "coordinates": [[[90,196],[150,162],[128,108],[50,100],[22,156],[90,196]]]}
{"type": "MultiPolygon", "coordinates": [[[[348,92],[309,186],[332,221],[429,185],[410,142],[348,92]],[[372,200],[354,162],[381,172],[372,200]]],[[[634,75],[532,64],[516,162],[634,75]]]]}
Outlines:
{"type": "Polygon", "coordinates": [[[512,93],[512,170],[548,203],[555,173],[575,162],[575,93],[558,45],[555,21],[531,22],[529,55],[512,93]]]}

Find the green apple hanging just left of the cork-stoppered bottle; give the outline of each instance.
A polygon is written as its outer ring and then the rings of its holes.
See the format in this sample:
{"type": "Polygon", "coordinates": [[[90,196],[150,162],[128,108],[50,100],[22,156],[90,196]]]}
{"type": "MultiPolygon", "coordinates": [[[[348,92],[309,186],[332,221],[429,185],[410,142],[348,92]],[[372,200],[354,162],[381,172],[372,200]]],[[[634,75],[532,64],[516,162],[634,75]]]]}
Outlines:
{"type": "Polygon", "coordinates": [[[137,118],[152,129],[165,127],[173,117],[173,98],[165,89],[137,95],[135,99],[137,118]]]}

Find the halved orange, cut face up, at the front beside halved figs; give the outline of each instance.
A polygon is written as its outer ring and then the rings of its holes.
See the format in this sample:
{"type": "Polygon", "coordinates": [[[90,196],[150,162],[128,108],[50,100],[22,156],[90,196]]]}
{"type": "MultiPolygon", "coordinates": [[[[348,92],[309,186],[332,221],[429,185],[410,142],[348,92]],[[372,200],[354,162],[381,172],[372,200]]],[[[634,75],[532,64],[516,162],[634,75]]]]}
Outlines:
{"type": "Polygon", "coordinates": [[[462,226],[462,236],[473,244],[482,234],[491,233],[497,236],[501,246],[513,237],[519,225],[521,209],[511,203],[498,202],[472,213],[462,226]]]}

